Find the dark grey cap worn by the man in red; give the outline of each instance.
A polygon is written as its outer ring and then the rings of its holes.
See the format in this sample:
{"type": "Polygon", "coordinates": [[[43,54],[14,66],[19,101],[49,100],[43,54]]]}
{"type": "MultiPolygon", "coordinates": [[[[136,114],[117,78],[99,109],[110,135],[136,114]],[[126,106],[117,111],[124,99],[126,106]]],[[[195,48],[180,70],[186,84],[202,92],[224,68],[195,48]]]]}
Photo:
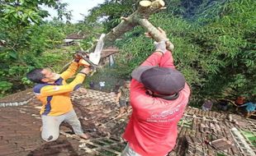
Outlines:
{"type": "Polygon", "coordinates": [[[131,73],[147,89],[159,94],[175,94],[184,88],[185,78],[180,71],[167,67],[140,66],[131,73]]]}

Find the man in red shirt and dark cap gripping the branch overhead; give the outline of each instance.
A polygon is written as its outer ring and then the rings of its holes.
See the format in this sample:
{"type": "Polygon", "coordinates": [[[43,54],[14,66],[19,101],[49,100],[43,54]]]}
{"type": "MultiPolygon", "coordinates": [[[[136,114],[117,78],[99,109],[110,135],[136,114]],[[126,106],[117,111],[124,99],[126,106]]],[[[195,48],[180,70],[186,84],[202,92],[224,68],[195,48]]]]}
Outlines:
{"type": "Polygon", "coordinates": [[[176,144],[178,121],[188,103],[190,89],[166,50],[166,34],[156,50],[132,73],[132,114],[123,138],[128,141],[121,155],[165,156],[176,144]]]}

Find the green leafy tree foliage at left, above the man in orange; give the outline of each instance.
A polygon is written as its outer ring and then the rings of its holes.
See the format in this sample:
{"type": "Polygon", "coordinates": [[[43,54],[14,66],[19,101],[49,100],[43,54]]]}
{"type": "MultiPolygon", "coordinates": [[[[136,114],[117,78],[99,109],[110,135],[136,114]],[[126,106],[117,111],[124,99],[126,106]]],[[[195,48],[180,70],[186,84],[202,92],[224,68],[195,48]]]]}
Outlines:
{"type": "Polygon", "coordinates": [[[49,14],[41,5],[64,10],[59,7],[63,4],[54,0],[0,2],[0,94],[24,88],[21,84],[28,83],[24,75],[40,66],[40,53],[64,38],[57,28],[43,22],[49,14]]]}

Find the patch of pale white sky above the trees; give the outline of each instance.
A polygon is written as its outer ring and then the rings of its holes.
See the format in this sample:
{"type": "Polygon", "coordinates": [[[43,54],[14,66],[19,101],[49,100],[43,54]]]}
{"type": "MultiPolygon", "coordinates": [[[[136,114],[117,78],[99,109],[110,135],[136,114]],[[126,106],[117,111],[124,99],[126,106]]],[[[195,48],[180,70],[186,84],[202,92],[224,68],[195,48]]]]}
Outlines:
{"type": "MultiPolygon", "coordinates": [[[[68,10],[72,11],[72,23],[83,20],[83,15],[88,15],[88,10],[92,7],[96,7],[97,4],[105,2],[105,0],[61,0],[61,2],[67,2],[69,6],[68,10]]],[[[57,16],[57,12],[49,7],[43,7],[45,10],[49,11],[50,17],[47,17],[46,20],[52,19],[53,16],[57,16]]]]}

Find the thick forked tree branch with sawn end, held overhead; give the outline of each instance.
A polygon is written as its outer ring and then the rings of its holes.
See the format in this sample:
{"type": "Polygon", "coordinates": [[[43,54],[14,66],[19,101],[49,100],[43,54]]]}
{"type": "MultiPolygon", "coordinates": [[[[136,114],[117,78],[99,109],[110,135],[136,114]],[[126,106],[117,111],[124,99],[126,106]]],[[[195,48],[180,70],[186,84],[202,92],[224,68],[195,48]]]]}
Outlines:
{"type": "MultiPolygon", "coordinates": [[[[164,1],[163,0],[154,0],[151,1],[140,1],[140,6],[137,11],[132,13],[128,17],[121,17],[122,21],[119,25],[111,30],[111,32],[107,33],[104,37],[104,46],[113,45],[115,40],[120,38],[122,34],[125,34],[127,31],[132,30],[136,25],[141,25],[147,32],[149,32],[152,38],[155,41],[160,41],[163,39],[159,30],[152,25],[148,19],[149,16],[154,12],[164,9],[164,1]]],[[[173,44],[168,42],[168,50],[173,51],[173,44]]],[[[93,52],[94,48],[90,52],[93,52]]],[[[102,52],[104,53],[104,52],[102,52]]],[[[102,54],[104,55],[104,54],[102,54]]]]}

